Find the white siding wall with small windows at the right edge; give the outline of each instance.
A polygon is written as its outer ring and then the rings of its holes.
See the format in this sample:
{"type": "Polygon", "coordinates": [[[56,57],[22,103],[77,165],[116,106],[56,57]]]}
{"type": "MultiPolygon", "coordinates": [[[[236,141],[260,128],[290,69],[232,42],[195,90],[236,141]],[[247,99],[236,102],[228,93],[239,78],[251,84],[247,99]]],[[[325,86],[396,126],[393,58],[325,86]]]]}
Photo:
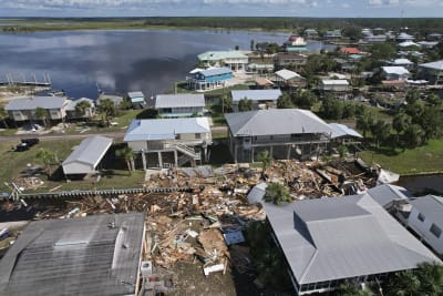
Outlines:
{"type": "MultiPolygon", "coordinates": [[[[437,238],[434,234],[431,233],[431,226],[434,223],[430,218],[426,217],[425,213],[422,213],[424,216],[424,221],[419,220],[419,211],[416,208],[412,208],[411,214],[408,218],[409,226],[416,232],[423,239],[432,246],[439,254],[443,254],[443,233],[437,238]]],[[[443,231],[443,225],[435,224],[443,231]]]]}

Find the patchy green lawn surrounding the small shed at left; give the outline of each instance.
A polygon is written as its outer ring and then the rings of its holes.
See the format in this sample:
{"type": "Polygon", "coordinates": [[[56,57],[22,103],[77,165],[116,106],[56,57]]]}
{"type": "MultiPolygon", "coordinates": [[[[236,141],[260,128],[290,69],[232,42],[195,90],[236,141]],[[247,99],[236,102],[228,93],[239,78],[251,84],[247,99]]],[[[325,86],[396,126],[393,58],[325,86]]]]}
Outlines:
{"type": "MultiPolygon", "coordinates": [[[[0,192],[10,192],[4,182],[10,183],[16,177],[20,177],[27,171],[27,164],[39,164],[35,155],[39,149],[48,149],[54,152],[62,162],[72,152],[72,149],[80,143],[80,140],[63,140],[63,141],[42,141],[28,151],[14,152],[12,146],[18,142],[1,142],[0,153],[0,192]]],[[[44,185],[40,187],[39,192],[48,192],[61,185],[58,191],[64,190],[93,190],[93,188],[124,188],[124,187],[141,187],[144,182],[144,171],[135,171],[128,174],[123,160],[116,159],[113,152],[107,153],[107,160],[104,163],[106,171],[99,183],[91,181],[72,181],[66,183],[65,178],[60,174],[60,165],[52,165],[51,170],[55,172],[59,170],[59,177],[55,181],[48,181],[45,174],[37,175],[40,177],[44,185]],[[110,155],[111,154],[111,155],[110,155]]]]}

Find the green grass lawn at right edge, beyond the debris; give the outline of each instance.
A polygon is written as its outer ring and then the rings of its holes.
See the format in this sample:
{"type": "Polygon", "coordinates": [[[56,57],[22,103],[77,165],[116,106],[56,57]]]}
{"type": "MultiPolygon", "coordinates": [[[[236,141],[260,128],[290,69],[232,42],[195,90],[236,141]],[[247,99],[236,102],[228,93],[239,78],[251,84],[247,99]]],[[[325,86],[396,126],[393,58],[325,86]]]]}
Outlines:
{"type": "Polygon", "coordinates": [[[443,171],[443,140],[431,140],[424,146],[404,152],[401,149],[387,149],[365,151],[360,155],[368,164],[375,162],[399,174],[443,171]]]}

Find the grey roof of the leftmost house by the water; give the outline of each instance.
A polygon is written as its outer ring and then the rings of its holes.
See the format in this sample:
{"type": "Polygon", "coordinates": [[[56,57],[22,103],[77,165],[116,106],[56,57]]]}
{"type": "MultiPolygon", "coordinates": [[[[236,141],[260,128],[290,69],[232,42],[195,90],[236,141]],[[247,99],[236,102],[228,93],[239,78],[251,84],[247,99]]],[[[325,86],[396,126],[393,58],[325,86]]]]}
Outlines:
{"type": "Polygon", "coordinates": [[[61,109],[66,101],[66,96],[25,96],[9,101],[4,110],[61,109]]]}

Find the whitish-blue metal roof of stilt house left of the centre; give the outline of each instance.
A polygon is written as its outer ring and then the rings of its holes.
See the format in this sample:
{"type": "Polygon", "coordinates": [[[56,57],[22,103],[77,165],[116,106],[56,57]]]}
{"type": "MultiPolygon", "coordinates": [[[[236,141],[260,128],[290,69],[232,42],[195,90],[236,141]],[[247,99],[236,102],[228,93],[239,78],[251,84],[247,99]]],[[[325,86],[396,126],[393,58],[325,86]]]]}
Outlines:
{"type": "Polygon", "coordinates": [[[177,134],[186,133],[210,133],[208,119],[133,120],[124,141],[174,140],[177,134]]]}

